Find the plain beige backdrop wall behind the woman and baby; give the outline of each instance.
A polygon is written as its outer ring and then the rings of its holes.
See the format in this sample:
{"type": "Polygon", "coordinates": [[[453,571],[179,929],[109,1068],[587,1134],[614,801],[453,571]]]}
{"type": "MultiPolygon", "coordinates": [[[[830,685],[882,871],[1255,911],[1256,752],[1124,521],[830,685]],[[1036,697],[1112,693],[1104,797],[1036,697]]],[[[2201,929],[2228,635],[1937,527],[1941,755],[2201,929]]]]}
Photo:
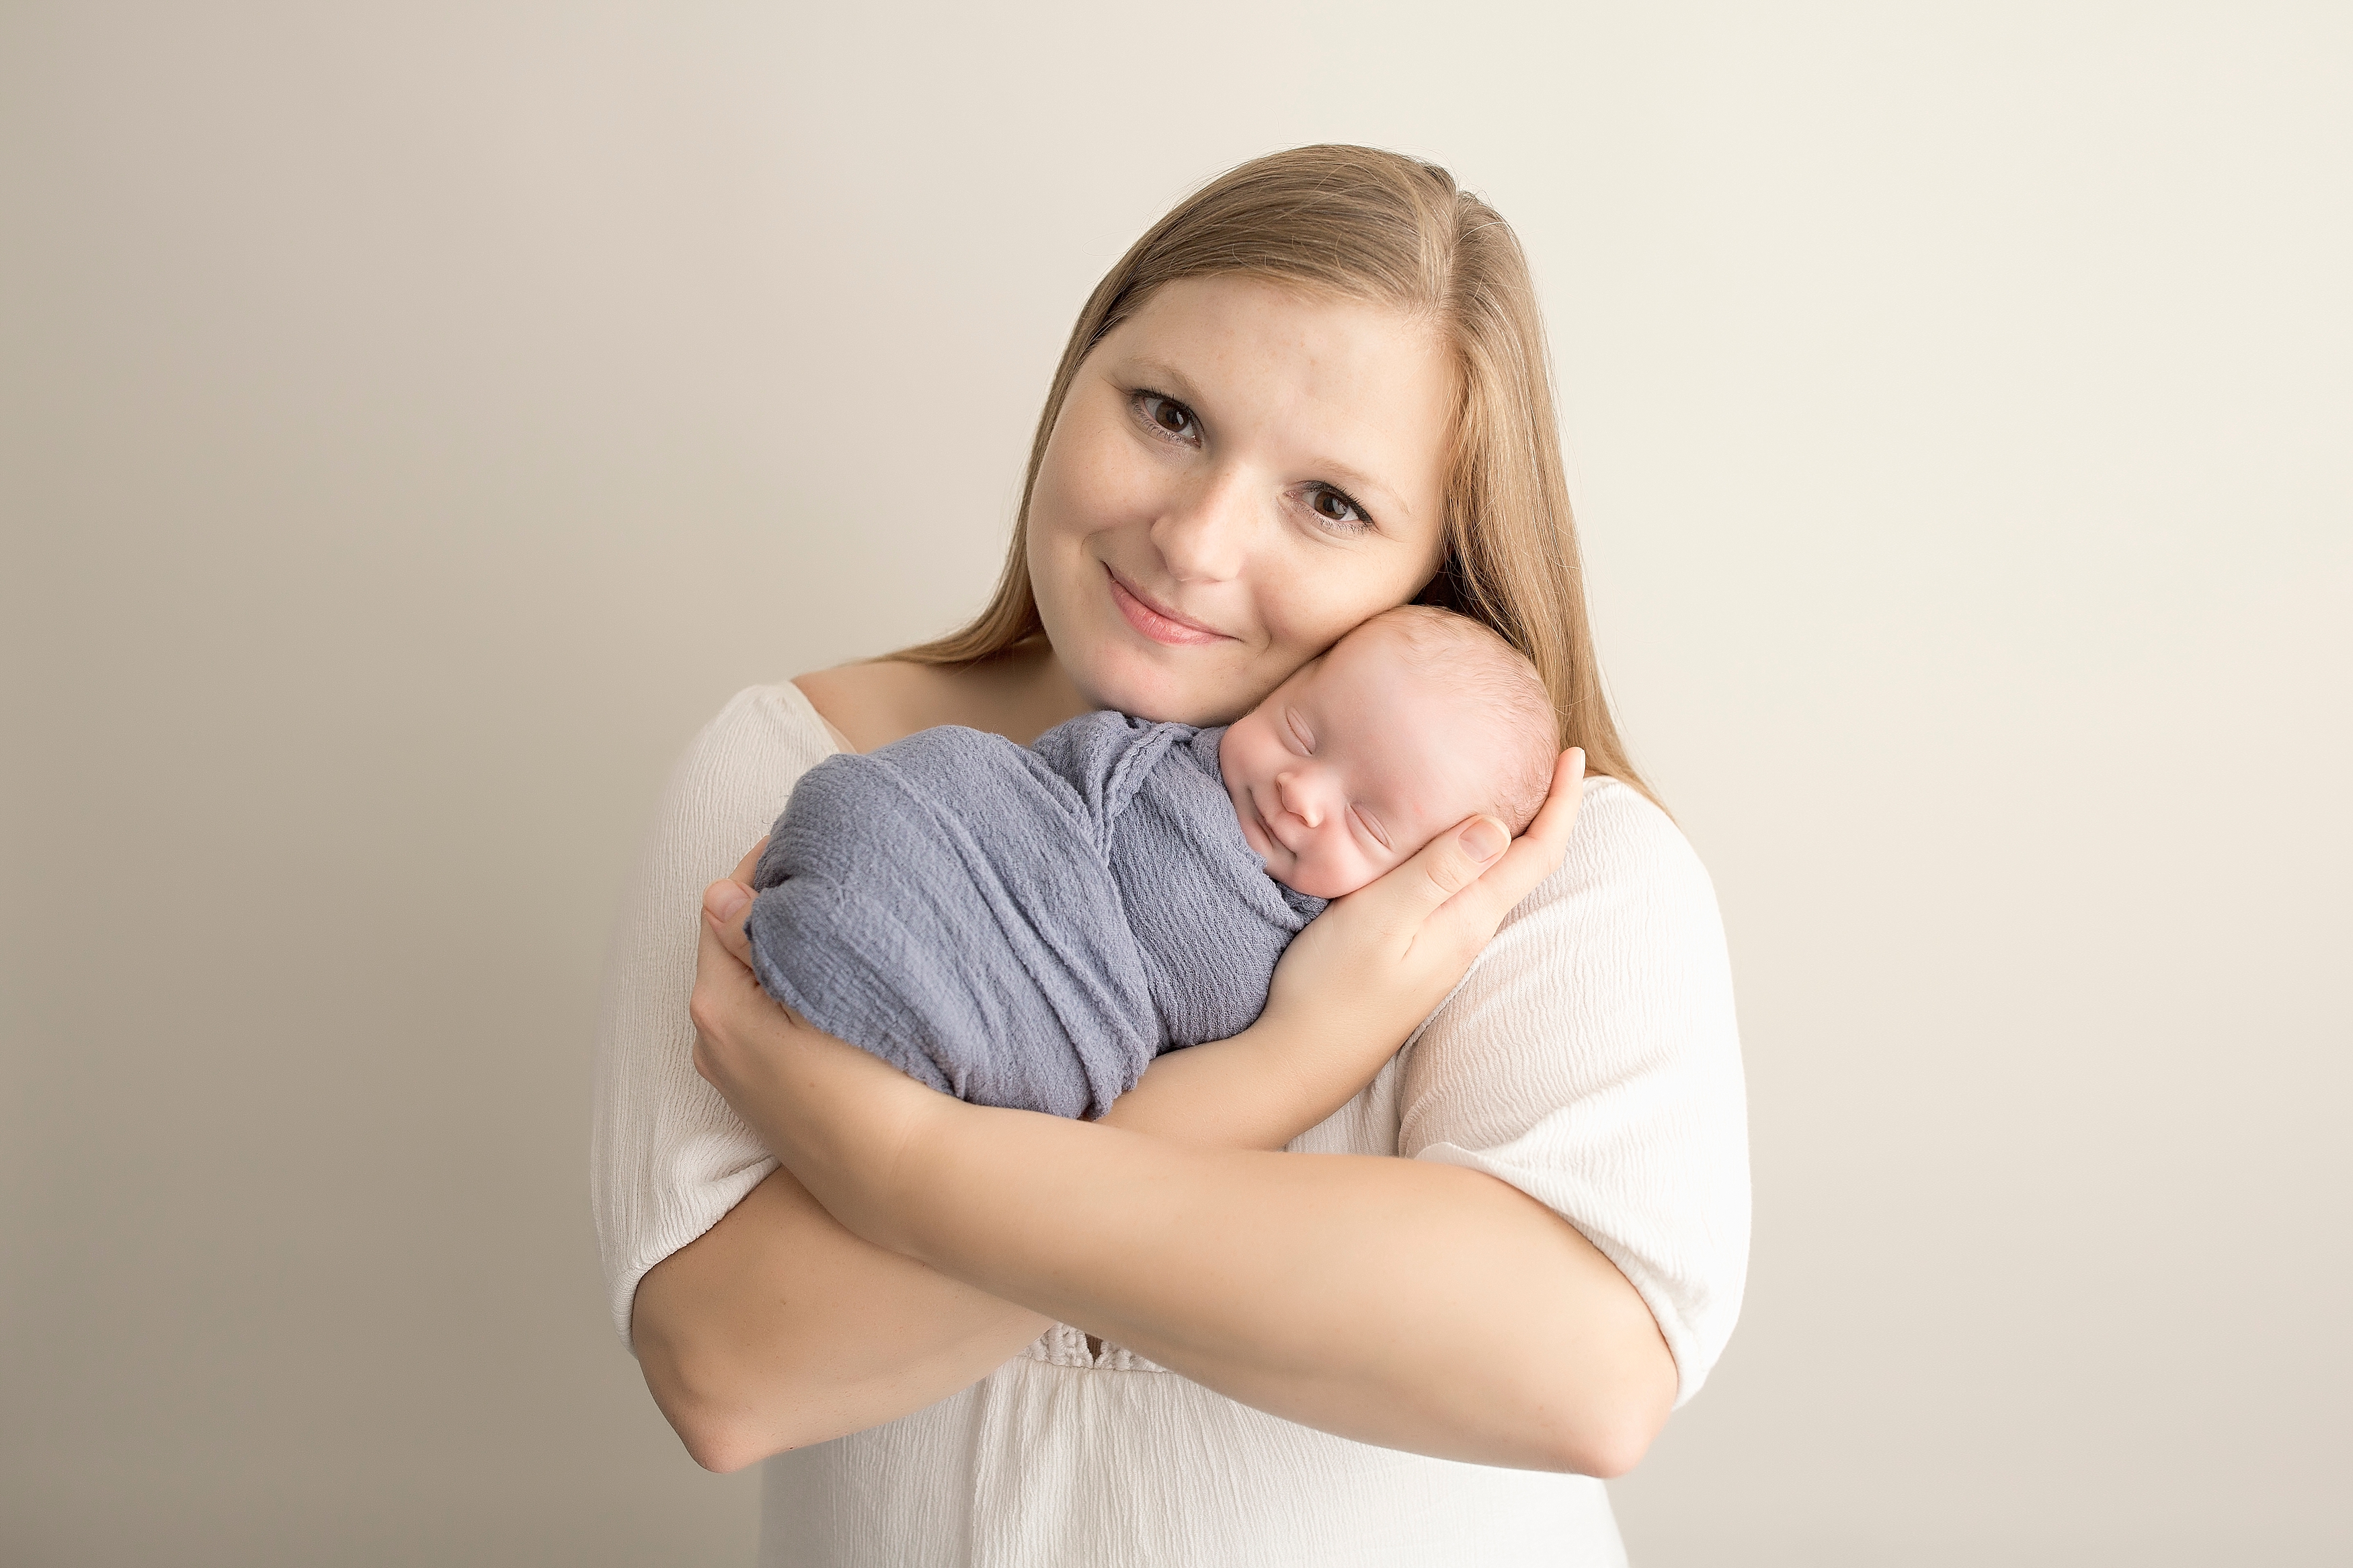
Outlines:
{"type": "Polygon", "coordinates": [[[967,611],[1101,268],[1358,139],[1537,259],[1732,933],[1638,1563],[2348,1561],[2346,16],[0,5],[0,1559],[748,1561],[588,1229],[664,769],[967,611]]]}

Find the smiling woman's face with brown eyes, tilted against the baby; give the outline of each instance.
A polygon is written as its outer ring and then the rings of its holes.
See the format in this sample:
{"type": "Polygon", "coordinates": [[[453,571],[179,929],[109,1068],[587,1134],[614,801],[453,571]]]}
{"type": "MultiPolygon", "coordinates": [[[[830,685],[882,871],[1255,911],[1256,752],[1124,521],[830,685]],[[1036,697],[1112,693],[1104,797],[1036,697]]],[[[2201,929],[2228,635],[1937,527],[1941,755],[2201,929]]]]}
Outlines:
{"type": "Polygon", "coordinates": [[[1221,724],[1445,557],[1454,364],[1384,306],[1165,284],[1087,355],[1028,569],[1089,703],[1221,724]]]}

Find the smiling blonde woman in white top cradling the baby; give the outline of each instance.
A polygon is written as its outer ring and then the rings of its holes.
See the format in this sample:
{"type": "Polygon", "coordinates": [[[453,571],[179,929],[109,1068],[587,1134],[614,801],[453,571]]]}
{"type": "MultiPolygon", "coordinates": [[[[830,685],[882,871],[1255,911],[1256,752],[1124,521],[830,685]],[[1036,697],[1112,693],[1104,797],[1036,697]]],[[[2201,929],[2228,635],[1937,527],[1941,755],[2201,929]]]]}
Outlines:
{"type": "Polygon", "coordinates": [[[1047,393],[993,604],[736,696],[621,954],[614,1312],[699,1462],[774,1455],[765,1563],[1619,1561],[1598,1476],[1739,1309],[1713,891],[1602,701],[1518,242],[1407,158],[1264,158],[1136,242],[1047,393]],[[1544,672],[1574,748],[1546,811],[1339,900],[1259,1025],[1099,1124],[807,1030],[741,964],[748,858],[704,891],[835,748],[1228,722],[1417,597],[1544,672]]]}

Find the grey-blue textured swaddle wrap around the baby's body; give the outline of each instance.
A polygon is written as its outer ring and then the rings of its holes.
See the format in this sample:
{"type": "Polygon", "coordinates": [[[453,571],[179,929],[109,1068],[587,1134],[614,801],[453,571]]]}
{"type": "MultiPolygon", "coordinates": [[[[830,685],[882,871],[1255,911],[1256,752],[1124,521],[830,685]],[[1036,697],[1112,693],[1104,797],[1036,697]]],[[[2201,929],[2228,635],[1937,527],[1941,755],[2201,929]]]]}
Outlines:
{"type": "Polygon", "coordinates": [[[1249,1027],[1325,907],[1242,839],[1224,733],[1089,712],[826,757],[753,872],[760,985],[944,1093],[1104,1114],[1160,1051],[1249,1027]]]}

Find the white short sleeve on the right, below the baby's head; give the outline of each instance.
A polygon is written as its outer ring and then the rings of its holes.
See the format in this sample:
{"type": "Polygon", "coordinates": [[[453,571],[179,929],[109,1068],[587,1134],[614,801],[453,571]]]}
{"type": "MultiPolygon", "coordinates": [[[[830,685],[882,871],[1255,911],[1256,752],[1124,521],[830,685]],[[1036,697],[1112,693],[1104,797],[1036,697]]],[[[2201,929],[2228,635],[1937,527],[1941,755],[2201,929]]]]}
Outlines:
{"type": "Polygon", "coordinates": [[[1748,1117],[1715,889],[1640,792],[1593,780],[1567,860],[1405,1060],[1398,1152],[1485,1171],[1640,1291],[1680,1406],[1748,1274],[1748,1117]]]}

